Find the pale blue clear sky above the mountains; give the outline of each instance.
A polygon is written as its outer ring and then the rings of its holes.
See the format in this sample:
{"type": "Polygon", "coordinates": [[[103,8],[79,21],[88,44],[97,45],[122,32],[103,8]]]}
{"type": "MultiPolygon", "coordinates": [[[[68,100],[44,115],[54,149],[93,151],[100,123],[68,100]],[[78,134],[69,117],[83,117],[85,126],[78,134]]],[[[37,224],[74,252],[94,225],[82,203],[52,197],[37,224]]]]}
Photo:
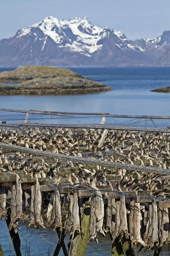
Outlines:
{"type": "Polygon", "coordinates": [[[170,30],[170,0],[1,0],[0,39],[46,16],[68,20],[87,16],[96,26],[120,30],[129,39],[170,30]]]}

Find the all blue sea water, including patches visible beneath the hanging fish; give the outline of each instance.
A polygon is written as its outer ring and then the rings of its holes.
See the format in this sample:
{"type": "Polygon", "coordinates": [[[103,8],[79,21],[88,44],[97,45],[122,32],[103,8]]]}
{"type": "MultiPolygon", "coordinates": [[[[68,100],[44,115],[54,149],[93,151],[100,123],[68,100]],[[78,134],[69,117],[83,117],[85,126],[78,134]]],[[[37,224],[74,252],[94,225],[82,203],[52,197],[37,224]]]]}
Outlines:
{"type": "MultiPolygon", "coordinates": [[[[71,70],[81,74],[86,78],[99,81],[109,85],[113,90],[102,93],[74,96],[0,96],[0,108],[11,109],[37,109],[48,111],[71,111],[71,112],[107,112],[111,114],[126,115],[167,115],[170,116],[170,94],[154,93],[150,90],[170,86],[170,67],[69,67],[71,70]]],[[[0,72],[13,70],[14,68],[0,67],[0,72]]],[[[20,122],[25,118],[25,114],[14,114],[8,112],[0,113],[0,120],[8,122],[20,122]]],[[[61,123],[100,123],[101,117],[66,118],[66,117],[42,117],[30,115],[30,122],[61,122],[61,123]]],[[[153,121],[153,120],[152,120],[153,121]]],[[[133,126],[166,127],[168,122],[161,120],[148,122],[146,120],[114,119],[107,120],[106,123],[124,124],[133,126]]],[[[0,221],[0,230],[3,236],[0,243],[5,256],[14,255],[11,239],[3,219],[0,221]],[[11,248],[11,252],[9,250],[11,248]]],[[[57,235],[51,230],[42,232],[42,236],[50,241],[45,241],[37,230],[31,233],[26,230],[26,225],[20,223],[21,251],[25,255],[27,245],[31,242],[31,256],[53,255],[57,242],[57,235]]],[[[66,241],[68,241],[67,236],[66,241]]],[[[59,254],[62,256],[62,251],[59,254]]],[[[111,255],[111,241],[109,236],[99,239],[99,244],[90,243],[88,245],[87,256],[108,256],[111,255]]],[[[153,255],[145,252],[136,255],[153,255]]],[[[170,255],[165,249],[162,255],[170,255]]]]}

